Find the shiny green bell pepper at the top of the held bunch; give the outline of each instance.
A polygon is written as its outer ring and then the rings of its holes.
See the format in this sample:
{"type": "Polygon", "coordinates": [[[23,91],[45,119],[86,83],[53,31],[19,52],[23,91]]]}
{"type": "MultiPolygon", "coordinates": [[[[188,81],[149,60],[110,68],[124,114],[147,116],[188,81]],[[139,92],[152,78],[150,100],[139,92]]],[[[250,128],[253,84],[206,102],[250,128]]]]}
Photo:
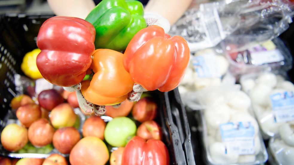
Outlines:
{"type": "Polygon", "coordinates": [[[132,37],[147,27],[144,9],[136,0],[103,0],[87,16],[96,29],[95,47],[125,50],[132,37]]]}

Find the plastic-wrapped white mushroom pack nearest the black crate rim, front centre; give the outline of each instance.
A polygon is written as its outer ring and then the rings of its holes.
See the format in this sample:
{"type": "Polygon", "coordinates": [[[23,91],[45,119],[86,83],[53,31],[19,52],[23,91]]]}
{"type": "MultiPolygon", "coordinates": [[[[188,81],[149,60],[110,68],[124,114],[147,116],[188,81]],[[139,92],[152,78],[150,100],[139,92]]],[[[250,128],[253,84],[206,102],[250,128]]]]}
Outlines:
{"type": "Polygon", "coordinates": [[[183,102],[201,112],[202,143],[207,164],[262,164],[267,158],[251,100],[240,85],[188,92],[183,102]]]}

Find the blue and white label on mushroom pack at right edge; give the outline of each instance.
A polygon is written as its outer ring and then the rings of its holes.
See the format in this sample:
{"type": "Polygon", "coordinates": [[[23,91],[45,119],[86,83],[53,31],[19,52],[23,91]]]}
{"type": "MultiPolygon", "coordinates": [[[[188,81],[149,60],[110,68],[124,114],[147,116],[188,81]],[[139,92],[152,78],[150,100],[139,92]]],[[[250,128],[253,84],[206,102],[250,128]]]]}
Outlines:
{"type": "Polygon", "coordinates": [[[270,96],[275,122],[287,122],[294,120],[294,96],[293,92],[275,93],[270,96]]]}

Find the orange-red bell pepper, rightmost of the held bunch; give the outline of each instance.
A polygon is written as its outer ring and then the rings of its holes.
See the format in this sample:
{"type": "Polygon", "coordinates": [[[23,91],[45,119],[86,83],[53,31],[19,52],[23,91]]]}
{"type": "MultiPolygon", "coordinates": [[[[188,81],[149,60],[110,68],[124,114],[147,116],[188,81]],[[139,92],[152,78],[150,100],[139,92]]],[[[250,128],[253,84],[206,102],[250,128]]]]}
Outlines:
{"type": "Polygon", "coordinates": [[[156,25],[140,30],[124,53],[124,67],[146,90],[167,92],[182,81],[190,50],[180,36],[170,37],[156,25]]]}

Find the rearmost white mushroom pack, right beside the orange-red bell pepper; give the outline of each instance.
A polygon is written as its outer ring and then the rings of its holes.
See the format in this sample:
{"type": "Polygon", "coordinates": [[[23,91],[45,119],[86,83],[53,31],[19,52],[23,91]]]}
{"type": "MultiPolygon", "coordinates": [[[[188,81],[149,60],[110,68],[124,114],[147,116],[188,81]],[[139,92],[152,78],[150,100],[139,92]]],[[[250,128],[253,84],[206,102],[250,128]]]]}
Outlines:
{"type": "Polygon", "coordinates": [[[221,84],[235,84],[228,73],[229,61],[219,47],[199,50],[190,56],[190,63],[179,85],[179,92],[197,91],[221,84]]]}

